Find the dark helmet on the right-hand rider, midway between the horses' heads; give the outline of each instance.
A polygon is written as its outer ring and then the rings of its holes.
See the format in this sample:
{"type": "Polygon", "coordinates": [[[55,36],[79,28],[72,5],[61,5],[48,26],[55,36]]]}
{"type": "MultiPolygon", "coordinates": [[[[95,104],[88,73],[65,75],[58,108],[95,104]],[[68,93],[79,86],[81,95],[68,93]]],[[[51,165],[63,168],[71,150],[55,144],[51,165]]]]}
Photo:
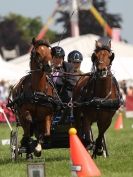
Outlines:
{"type": "Polygon", "coordinates": [[[79,51],[73,50],[68,54],[67,60],[72,63],[81,63],[83,61],[83,55],[79,51]]]}

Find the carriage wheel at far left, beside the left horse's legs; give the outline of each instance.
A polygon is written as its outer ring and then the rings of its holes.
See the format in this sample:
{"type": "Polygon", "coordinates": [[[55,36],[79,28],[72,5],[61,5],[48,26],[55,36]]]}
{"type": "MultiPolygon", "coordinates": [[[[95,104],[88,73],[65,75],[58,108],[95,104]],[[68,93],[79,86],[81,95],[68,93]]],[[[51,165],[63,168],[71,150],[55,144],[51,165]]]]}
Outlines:
{"type": "Polygon", "coordinates": [[[11,159],[17,160],[18,158],[18,133],[17,131],[11,131],[10,134],[10,151],[11,159]]]}

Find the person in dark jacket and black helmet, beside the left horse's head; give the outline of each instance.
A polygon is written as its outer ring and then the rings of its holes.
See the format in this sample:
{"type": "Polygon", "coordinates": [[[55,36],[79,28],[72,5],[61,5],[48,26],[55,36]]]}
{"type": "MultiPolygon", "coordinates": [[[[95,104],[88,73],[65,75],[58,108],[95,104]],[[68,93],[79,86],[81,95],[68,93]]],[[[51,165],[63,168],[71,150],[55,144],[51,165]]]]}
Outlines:
{"type": "Polygon", "coordinates": [[[53,82],[62,102],[68,103],[72,98],[72,90],[76,84],[76,78],[71,75],[74,73],[73,64],[64,61],[65,51],[62,47],[53,47],[51,54],[54,68],[53,82]]]}

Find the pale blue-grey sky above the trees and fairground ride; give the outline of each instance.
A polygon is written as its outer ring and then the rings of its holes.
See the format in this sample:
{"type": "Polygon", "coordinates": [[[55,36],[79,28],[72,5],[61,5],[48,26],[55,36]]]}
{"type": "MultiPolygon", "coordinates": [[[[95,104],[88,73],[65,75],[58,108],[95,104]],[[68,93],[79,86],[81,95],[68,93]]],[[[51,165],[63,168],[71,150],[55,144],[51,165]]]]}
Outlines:
{"type": "MultiPolygon", "coordinates": [[[[57,0],[0,0],[0,16],[9,13],[21,14],[26,17],[40,16],[45,23],[53,12],[57,0]]],[[[133,0],[106,0],[107,11],[112,14],[120,14],[122,22],[121,36],[133,44],[133,0]]],[[[52,25],[53,29],[59,30],[52,25]]]]}

